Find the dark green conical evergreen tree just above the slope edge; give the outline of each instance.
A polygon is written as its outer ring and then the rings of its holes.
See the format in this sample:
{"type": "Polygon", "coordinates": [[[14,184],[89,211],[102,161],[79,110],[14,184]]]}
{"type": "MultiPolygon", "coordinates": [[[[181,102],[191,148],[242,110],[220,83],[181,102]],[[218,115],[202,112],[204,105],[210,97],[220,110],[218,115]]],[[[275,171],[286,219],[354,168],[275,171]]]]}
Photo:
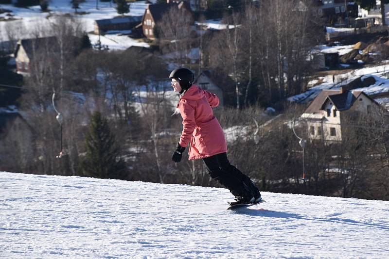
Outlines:
{"type": "Polygon", "coordinates": [[[100,112],[93,113],[85,137],[87,154],[82,162],[83,175],[95,178],[127,179],[125,162],[120,149],[100,112]]]}

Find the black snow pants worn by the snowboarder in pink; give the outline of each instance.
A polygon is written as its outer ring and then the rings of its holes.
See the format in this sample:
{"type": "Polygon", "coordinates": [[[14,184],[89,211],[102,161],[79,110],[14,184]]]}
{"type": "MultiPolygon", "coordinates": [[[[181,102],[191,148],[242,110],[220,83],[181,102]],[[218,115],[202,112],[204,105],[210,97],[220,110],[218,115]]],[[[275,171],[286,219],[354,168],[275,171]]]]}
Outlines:
{"type": "MultiPolygon", "coordinates": [[[[250,186],[251,179],[238,168],[231,165],[227,159],[227,153],[221,153],[212,157],[203,158],[208,169],[208,174],[232,193],[242,190],[244,183],[250,186]]],[[[258,189],[257,189],[258,190],[258,189]]]]}

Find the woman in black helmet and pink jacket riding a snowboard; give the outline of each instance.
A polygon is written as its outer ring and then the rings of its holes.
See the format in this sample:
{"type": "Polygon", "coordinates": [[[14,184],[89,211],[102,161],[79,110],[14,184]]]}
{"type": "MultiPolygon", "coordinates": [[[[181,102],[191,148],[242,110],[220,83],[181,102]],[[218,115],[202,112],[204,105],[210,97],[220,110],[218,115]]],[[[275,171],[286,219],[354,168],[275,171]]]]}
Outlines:
{"type": "Polygon", "coordinates": [[[194,74],[188,68],[173,70],[169,78],[174,91],[180,94],[175,114],[181,114],[183,125],[172,160],[180,162],[190,143],[189,160],[202,159],[211,178],[229,189],[238,202],[259,203],[261,194],[253,181],[227,159],[224,132],[212,113],[219,98],[194,85],[194,74]]]}

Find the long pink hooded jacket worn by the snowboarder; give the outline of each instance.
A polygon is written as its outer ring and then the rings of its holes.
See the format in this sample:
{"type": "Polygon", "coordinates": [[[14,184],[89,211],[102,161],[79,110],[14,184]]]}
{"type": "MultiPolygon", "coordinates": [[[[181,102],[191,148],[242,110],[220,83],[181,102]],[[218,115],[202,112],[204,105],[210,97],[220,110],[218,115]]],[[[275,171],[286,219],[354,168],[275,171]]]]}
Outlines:
{"type": "Polygon", "coordinates": [[[192,85],[179,99],[177,108],[182,116],[180,146],[189,146],[189,160],[202,159],[227,152],[226,139],[212,108],[219,105],[219,98],[192,85]]]}

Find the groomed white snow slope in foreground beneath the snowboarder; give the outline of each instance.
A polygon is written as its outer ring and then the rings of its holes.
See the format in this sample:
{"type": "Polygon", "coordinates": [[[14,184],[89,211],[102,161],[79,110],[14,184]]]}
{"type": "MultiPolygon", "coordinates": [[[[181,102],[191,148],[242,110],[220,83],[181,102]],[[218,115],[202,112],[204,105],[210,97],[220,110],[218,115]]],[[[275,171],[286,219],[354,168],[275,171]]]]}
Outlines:
{"type": "Polygon", "coordinates": [[[0,258],[388,258],[389,202],[0,172],[0,258]]]}

